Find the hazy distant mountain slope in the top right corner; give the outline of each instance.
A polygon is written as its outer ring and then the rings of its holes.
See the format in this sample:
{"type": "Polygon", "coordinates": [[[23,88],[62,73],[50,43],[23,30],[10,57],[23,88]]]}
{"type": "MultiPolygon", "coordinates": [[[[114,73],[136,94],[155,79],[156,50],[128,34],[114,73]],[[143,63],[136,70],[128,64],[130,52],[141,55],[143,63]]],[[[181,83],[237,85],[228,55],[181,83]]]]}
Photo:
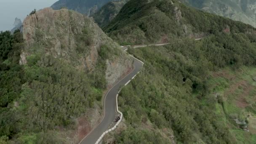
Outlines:
{"type": "Polygon", "coordinates": [[[181,0],[195,8],[256,27],[255,0],[181,0]]]}

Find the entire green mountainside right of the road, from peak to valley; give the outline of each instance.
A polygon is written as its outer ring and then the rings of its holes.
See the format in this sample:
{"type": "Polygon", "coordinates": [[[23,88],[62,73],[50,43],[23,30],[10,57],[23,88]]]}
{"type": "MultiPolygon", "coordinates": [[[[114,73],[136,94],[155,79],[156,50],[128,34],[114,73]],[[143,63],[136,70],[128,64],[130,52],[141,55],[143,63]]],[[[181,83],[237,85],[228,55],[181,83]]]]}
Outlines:
{"type": "Polygon", "coordinates": [[[255,28],[177,0],[130,0],[104,30],[123,44],[169,43],[128,48],[145,64],[120,92],[125,121],[106,143],[255,143],[255,28]]]}

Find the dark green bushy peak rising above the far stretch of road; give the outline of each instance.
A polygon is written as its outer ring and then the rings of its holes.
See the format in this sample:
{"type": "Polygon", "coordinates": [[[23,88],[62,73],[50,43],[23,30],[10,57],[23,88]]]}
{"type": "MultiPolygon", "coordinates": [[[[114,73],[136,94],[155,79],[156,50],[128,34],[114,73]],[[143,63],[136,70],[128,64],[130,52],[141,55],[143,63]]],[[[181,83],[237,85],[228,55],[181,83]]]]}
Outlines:
{"type": "Polygon", "coordinates": [[[227,26],[233,32],[253,29],[241,22],[190,8],[176,0],[173,2],[130,0],[104,31],[120,44],[141,44],[164,43],[173,37],[214,34],[227,26]]]}

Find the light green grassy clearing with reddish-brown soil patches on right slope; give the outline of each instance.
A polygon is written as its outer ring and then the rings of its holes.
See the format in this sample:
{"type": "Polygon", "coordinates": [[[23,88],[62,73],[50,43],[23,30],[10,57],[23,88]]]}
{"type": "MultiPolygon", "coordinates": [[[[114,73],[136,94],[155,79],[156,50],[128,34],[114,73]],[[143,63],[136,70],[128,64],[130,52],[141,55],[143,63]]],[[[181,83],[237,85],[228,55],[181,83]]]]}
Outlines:
{"type": "Polygon", "coordinates": [[[213,72],[208,80],[211,93],[218,95],[223,102],[216,103],[216,115],[219,121],[230,128],[239,143],[256,142],[256,82],[255,67],[231,68],[213,72]],[[234,119],[248,120],[246,132],[234,123],[234,119]]]}

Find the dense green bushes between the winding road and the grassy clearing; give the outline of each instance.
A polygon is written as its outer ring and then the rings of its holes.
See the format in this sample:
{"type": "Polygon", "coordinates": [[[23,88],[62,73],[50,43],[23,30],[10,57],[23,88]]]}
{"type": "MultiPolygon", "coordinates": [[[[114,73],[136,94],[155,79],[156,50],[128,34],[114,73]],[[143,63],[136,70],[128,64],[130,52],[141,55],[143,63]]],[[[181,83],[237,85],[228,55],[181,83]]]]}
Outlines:
{"type": "Polygon", "coordinates": [[[128,49],[145,65],[120,93],[119,106],[128,128],[115,136],[117,143],[138,143],[140,136],[153,141],[151,137],[160,132],[162,138],[152,143],[167,144],[163,139],[170,140],[166,136],[173,131],[180,143],[243,143],[246,136],[246,142],[253,144],[255,133],[234,124],[238,116],[216,113],[224,95],[216,97],[209,77],[224,67],[255,66],[255,42],[253,34],[217,32],[200,41],[184,38],[164,47],[128,49]]]}

